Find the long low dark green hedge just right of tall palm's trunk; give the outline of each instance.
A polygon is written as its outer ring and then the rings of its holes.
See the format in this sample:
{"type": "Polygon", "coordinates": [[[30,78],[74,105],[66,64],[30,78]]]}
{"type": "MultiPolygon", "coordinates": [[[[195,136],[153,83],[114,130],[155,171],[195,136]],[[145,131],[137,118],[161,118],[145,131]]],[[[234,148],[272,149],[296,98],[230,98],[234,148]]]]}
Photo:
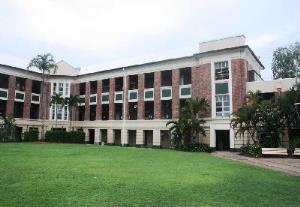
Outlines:
{"type": "Polygon", "coordinates": [[[85,134],[82,131],[59,131],[51,130],[45,134],[46,142],[56,143],[84,143],[85,134]]]}

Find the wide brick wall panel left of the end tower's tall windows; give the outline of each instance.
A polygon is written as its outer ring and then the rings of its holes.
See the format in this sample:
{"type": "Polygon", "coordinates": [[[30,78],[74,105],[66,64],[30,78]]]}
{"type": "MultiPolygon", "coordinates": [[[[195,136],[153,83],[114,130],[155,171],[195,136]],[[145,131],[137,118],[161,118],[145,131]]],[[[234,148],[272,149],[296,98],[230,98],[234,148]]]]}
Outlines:
{"type": "Polygon", "coordinates": [[[211,114],[211,64],[203,64],[192,68],[192,97],[205,98],[209,104],[208,114],[211,114]]]}

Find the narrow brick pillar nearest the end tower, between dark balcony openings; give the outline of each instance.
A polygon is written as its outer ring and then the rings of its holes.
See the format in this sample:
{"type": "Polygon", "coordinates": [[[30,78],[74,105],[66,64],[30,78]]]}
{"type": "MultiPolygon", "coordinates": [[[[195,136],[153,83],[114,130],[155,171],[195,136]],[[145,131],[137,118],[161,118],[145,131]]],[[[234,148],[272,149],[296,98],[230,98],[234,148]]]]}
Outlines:
{"type": "Polygon", "coordinates": [[[172,70],[172,118],[179,117],[180,100],[179,100],[179,76],[180,69],[172,70]]]}

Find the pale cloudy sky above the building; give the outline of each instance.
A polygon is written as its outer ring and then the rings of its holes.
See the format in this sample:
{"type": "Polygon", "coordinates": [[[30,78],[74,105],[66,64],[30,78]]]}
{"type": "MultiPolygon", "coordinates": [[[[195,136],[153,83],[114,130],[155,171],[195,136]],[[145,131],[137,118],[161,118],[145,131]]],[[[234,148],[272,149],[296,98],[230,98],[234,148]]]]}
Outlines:
{"type": "Polygon", "coordinates": [[[194,54],[244,34],[272,79],[272,53],[300,41],[297,0],[0,0],[0,63],[50,52],[82,73],[194,54]]]}

